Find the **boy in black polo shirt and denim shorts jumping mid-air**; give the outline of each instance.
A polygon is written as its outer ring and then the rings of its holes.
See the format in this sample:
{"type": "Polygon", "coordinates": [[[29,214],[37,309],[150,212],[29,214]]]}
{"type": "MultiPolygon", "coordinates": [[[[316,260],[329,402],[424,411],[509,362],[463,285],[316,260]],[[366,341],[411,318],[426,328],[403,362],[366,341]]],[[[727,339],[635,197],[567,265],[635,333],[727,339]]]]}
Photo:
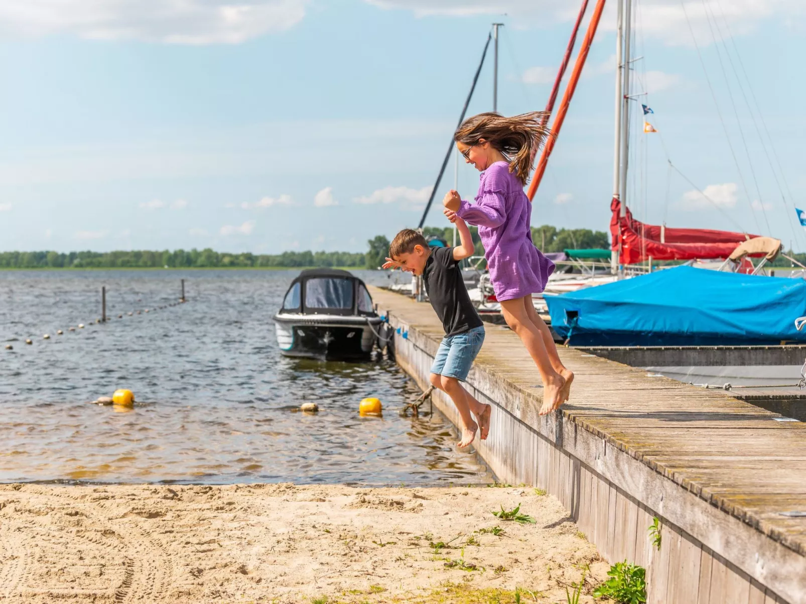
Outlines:
{"type": "Polygon", "coordinates": [[[473,254],[473,240],[461,218],[456,217],[455,225],[461,245],[452,248],[430,248],[426,238],[416,230],[401,230],[389,246],[391,258],[386,259],[384,268],[400,267],[422,275],[428,299],[445,329],[431,366],[430,382],[446,392],[455,404],[462,420],[462,440],[457,446],[467,447],[476,438],[477,429],[482,441],[487,438],[492,407],[477,401],[459,383],[467,378],[473,359],[479,354],[484,342],[484,323],[467,296],[459,269],[459,260],[473,254]]]}

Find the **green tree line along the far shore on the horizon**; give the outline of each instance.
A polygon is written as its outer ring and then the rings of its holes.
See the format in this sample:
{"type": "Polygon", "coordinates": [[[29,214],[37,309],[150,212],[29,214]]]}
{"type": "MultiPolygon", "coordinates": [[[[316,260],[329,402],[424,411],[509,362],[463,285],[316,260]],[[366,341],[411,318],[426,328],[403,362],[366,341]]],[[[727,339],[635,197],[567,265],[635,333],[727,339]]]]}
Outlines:
{"type": "MultiPolygon", "coordinates": [[[[476,243],[476,255],[484,255],[478,229],[470,227],[476,243]]],[[[436,236],[448,245],[453,242],[453,227],[426,226],[426,237],[436,236]]],[[[532,241],[542,251],[567,248],[609,247],[608,236],[588,229],[558,229],[551,225],[532,227],[532,241]]],[[[385,235],[368,241],[368,251],[285,251],[282,254],[240,254],[204,250],[118,250],[110,252],[8,251],[0,252],[0,268],[303,268],[348,267],[377,268],[389,250],[385,235]]]]}

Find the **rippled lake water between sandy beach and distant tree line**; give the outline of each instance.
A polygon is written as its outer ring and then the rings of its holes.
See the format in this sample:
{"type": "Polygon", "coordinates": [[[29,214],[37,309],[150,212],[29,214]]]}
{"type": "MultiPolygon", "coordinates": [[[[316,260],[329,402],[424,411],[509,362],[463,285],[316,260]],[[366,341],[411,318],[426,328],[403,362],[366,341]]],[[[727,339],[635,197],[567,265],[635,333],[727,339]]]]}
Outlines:
{"type": "Polygon", "coordinates": [[[295,275],[0,271],[0,482],[492,482],[444,417],[397,414],[419,391],[393,362],[280,355],[272,315],[295,275]],[[158,308],[181,278],[188,304],[158,308]],[[95,325],[102,285],[113,318],[95,325]],[[143,402],[88,403],[121,387],[143,402]],[[358,416],[366,396],[382,418],[358,416]],[[294,412],[306,401],[322,411],[294,412]]]}

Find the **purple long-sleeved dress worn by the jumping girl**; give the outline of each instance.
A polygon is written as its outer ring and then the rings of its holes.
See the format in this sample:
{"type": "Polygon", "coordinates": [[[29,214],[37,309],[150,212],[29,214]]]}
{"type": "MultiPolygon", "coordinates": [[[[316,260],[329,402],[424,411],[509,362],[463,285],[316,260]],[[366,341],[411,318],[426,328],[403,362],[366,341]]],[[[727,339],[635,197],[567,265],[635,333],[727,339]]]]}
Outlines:
{"type": "Polygon", "coordinates": [[[532,243],[532,204],[509,163],[481,173],[476,203],[462,200],[457,212],[478,225],[492,288],[498,300],[515,300],[546,288],[555,265],[532,243]]]}

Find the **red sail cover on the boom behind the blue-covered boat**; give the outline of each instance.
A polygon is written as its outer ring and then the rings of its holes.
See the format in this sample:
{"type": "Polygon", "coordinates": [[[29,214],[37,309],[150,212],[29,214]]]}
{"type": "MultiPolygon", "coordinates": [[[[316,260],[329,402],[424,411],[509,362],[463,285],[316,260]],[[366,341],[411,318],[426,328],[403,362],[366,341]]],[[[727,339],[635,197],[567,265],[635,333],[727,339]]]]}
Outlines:
{"type": "Polygon", "coordinates": [[[621,238],[621,264],[637,264],[654,260],[692,260],[727,258],[740,243],[758,237],[745,233],[708,229],[669,229],[663,230],[661,242],[657,225],[645,225],[626,211],[621,218],[621,202],[613,197],[610,202],[613,216],[610,218],[610,234],[613,250],[618,250],[621,238]]]}

